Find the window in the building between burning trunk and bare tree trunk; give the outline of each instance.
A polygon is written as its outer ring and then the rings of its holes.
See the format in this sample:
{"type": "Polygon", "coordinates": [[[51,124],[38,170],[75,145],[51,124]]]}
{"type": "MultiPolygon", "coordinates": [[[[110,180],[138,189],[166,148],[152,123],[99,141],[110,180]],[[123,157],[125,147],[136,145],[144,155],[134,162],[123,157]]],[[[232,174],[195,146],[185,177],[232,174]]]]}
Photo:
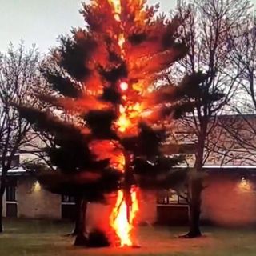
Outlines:
{"type": "Polygon", "coordinates": [[[179,196],[174,190],[162,190],[158,192],[158,204],[161,205],[185,205],[186,199],[179,196]]]}

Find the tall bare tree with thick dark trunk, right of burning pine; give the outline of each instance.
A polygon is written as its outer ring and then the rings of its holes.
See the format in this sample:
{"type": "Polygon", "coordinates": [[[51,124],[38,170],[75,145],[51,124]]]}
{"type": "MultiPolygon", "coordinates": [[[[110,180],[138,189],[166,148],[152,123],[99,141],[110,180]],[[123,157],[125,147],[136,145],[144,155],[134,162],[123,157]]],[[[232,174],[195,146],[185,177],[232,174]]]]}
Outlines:
{"type": "Polygon", "coordinates": [[[190,231],[186,238],[201,235],[199,219],[201,213],[201,194],[203,190],[203,166],[209,158],[209,150],[214,143],[209,138],[217,125],[217,115],[227,110],[227,103],[238,90],[237,78],[240,67],[230,69],[229,55],[234,51],[233,31],[242,24],[250,10],[248,0],[194,0],[180,2],[178,14],[190,17],[182,27],[183,39],[188,54],[178,63],[173,77],[202,72],[204,82],[197,92],[191,85],[191,93],[200,102],[192,116],[185,118],[186,129],[194,134],[197,144],[193,174],[189,182],[190,231]],[[231,40],[231,41],[230,41],[231,40]]]}

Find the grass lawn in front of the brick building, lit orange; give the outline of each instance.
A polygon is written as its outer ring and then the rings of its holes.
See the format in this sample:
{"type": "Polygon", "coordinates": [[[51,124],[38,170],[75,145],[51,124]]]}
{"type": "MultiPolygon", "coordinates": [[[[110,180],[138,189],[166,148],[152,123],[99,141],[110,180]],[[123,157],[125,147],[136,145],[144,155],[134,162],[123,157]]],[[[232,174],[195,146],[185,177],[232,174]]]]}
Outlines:
{"type": "Polygon", "coordinates": [[[150,256],[255,256],[256,230],[204,228],[205,236],[179,239],[184,228],[140,227],[142,248],[84,249],[72,246],[68,234],[71,224],[46,221],[6,220],[0,234],[1,256],[79,256],[79,255],[150,255],[150,256]]]}

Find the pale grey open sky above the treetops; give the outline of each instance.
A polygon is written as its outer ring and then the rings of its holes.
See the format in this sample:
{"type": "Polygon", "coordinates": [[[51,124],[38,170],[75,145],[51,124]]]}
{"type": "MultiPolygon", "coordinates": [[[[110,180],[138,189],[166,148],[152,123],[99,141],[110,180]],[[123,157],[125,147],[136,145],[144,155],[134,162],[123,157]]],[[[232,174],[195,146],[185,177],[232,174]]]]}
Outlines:
{"type": "MultiPolygon", "coordinates": [[[[0,52],[6,52],[10,42],[18,46],[22,39],[26,47],[36,44],[40,52],[46,53],[51,46],[58,45],[57,38],[60,34],[69,33],[72,27],[84,25],[82,15],[78,13],[81,2],[82,0],[0,0],[0,52]]],[[[161,10],[164,11],[176,4],[176,0],[148,2],[160,2],[161,10]]]]}

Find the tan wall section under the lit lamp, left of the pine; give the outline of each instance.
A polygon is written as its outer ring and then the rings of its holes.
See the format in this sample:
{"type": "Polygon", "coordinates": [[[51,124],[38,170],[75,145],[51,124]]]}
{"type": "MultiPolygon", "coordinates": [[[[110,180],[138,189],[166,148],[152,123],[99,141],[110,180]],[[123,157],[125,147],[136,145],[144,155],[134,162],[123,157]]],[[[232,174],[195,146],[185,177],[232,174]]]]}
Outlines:
{"type": "Polygon", "coordinates": [[[61,196],[44,190],[34,178],[20,178],[17,187],[18,217],[61,218],[61,196]]]}

